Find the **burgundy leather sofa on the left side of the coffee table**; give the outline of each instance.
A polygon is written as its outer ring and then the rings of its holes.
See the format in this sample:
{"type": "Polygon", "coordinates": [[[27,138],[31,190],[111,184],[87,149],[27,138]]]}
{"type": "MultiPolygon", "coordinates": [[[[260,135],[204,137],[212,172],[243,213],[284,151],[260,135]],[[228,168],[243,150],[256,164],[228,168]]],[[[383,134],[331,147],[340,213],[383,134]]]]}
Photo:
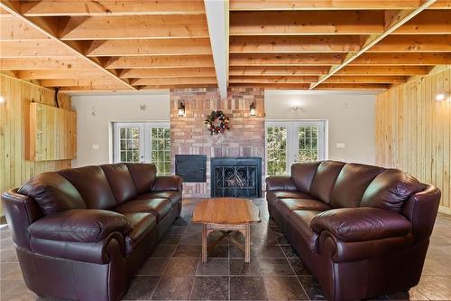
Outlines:
{"type": "Polygon", "coordinates": [[[40,296],[118,300],[181,210],[181,178],[155,165],[86,166],[3,193],[26,285],[40,296]]]}

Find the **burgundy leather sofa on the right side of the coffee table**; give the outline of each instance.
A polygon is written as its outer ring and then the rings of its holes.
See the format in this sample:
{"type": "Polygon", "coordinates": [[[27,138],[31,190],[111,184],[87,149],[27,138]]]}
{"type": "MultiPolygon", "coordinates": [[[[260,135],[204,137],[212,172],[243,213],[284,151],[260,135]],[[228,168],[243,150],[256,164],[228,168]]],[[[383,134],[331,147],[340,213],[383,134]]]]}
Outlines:
{"type": "Polygon", "coordinates": [[[335,161],[266,179],[272,219],[328,300],[408,291],[419,283],[440,191],[400,170],[335,161]]]}

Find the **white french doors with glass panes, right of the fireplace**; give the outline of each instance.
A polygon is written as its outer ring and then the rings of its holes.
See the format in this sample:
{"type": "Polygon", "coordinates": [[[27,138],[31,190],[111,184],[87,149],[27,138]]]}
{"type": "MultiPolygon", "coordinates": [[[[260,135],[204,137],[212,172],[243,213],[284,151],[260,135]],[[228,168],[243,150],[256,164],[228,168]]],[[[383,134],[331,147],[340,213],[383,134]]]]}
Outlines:
{"type": "Polygon", "coordinates": [[[325,121],[266,122],[266,174],[290,174],[296,162],[326,159],[325,121]]]}

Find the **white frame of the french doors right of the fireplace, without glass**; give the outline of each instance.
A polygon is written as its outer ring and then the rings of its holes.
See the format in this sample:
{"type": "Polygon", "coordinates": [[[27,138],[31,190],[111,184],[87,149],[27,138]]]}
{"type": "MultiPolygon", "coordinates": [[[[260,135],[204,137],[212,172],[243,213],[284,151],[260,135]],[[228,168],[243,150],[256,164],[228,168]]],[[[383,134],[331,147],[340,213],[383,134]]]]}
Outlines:
{"type": "Polygon", "coordinates": [[[318,126],[318,160],[328,159],[328,121],[327,119],[285,119],[285,120],[266,120],[264,123],[264,155],[265,155],[265,176],[268,176],[268,148],[267,136],[268,126],[287,127],[287,171],[290,174],[290,166],[294,164],[295,156],[299,153],[297,143],[299,126],[318,126]],[[322,139],[320,139],[322,136],[322,139]],[[322,141],[321,141],[322,140],[322,141]]]}

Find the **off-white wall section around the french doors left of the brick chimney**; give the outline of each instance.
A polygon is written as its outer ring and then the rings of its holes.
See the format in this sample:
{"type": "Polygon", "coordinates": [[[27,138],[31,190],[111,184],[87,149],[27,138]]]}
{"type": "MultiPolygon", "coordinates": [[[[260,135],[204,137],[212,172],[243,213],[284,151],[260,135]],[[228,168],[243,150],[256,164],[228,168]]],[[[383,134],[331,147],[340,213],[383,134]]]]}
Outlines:
{"type": "Polygon", "coordinates": [[[77,159],[72,166],[111,162],[112,122],[169,121],[169,91],[139,95],[74,95],[77,111],[77,159]],[[140,106],[145,105],[145,110],[140,106]],[[98,145],[98,149],[93,149],[98,145]]]}

